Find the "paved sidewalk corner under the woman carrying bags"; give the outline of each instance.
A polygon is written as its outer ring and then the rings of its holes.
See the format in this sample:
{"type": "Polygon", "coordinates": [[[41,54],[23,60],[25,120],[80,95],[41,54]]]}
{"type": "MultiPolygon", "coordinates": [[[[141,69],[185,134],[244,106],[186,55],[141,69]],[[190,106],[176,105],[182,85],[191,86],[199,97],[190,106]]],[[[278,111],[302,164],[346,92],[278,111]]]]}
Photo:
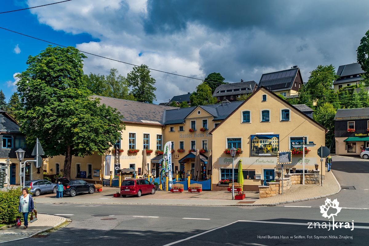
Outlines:
{"type": "Polygon", "coordinates": [[[19,228],[13,226],[8,229],[0,230],[0,243],[30,238],[39,233],[55,228],[56,226],[63,224],[65,221],[66,218],[60,216],[37,214],[37,221],[28,223],[27,229],[24,229],[22,224],[19,228]]]}

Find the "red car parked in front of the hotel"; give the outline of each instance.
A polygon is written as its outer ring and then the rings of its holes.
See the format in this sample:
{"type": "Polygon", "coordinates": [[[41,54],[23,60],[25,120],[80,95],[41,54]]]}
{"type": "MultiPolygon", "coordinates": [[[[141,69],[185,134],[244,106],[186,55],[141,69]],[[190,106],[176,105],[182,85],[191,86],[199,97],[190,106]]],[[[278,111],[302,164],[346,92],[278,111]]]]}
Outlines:
{"type": "Polygon", "coordinates": [[[127,179],[123,180],[120,186],[120,194],[122,197],[127,195],[155,194],[155,186],[147,179],[127,179]]]}

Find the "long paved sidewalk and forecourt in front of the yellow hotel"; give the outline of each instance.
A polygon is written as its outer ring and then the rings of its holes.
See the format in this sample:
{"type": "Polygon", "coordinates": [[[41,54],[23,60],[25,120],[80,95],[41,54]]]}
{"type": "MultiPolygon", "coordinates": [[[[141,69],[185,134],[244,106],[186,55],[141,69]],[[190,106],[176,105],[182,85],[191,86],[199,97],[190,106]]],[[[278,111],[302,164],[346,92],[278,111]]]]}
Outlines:
{"type": "Polygon", "coordinates": [[[56,199],[55,194],[42,195],[35,198],[35,202],[42,203],[74,203],[74,204],[143,204],[143,205],[202,205],[202,206],[275,206],[290,202],[313,200],[334,195],[341,187],[332,172],[325,173],[323,186],[313,184],[293,185],[283,195],[259,199],[258,192],[246,191],[246,199],[232,200],[230,192],[203,191],[201,193],[170,193],[156,191],[154,195],[141,197],[117,197],[113,194],[119,192],[118,187],[103,187],[103,192],[94,194],[81,194],[76,197],[63,197],[56,199]]]}

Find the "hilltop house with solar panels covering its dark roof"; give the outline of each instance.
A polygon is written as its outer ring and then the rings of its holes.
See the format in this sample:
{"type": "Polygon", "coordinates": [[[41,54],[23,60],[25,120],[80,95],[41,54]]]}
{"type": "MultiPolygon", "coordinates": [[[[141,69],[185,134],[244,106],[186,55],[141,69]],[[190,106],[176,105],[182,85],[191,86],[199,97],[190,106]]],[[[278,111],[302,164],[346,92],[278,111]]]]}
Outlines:
{"type": "Polygon", "coordinates": [[[303,83],[299,67],[293,66],[287,70],[264,73],[260,78],[258,89],[264,86],[275,94],[291,97],[297,95],[303,83]]]}

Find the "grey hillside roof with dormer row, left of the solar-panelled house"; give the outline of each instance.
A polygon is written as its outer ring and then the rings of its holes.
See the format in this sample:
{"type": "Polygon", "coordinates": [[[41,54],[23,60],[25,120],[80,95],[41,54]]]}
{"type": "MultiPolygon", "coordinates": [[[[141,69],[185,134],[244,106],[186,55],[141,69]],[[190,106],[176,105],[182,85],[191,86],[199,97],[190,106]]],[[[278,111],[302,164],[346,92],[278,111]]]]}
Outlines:
{"type": "Polygon", "coordinates": [[[252,93],[252,91],[255,88],[255,85],[257,85],[257,83],[254,80],[238,82],[238,83],[231,83],[231,84],[221,84],[220,86],[215,88],[213,97],[252,93]],[[224,91],[224,92],[221,92],[221,91],[224,91]]]}

